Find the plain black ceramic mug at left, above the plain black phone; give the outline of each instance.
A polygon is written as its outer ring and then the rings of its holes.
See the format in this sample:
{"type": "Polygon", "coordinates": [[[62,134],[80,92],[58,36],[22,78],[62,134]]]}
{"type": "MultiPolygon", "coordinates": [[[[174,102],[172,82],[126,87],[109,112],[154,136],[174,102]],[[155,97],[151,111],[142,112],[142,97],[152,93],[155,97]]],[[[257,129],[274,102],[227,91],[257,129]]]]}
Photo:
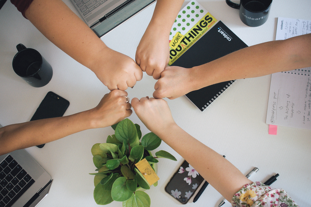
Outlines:
{"type": "Polygon", "coordinates": [[[35,49],[26,48],[23,44],[16,48],[18,52],[12,63],[14,72],[33,87],[48,84],[53,75],[51,65],[35,49]]]}

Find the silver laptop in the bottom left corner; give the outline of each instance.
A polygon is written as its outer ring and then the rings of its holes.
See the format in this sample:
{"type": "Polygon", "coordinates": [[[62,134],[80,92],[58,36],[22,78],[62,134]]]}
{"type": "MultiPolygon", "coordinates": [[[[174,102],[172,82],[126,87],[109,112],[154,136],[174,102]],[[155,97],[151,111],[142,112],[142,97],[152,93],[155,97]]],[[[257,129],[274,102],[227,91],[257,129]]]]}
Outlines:
{"type": "Polygon", "coordinates": [[[0,207],[36,206],[48,194],[52,181],[26,150],[1,155],[0,207]]]}

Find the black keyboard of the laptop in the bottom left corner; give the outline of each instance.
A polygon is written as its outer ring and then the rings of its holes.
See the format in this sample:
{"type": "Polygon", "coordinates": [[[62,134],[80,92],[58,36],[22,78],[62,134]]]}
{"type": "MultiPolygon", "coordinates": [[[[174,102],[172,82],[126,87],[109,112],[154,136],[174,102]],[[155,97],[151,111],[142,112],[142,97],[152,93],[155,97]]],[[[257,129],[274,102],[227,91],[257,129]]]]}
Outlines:
{"type": "Polygon", "coordinates": [[[34,179],[8,155],[0,163],[0,207],[10,207],[34,183],[34,179]]]}

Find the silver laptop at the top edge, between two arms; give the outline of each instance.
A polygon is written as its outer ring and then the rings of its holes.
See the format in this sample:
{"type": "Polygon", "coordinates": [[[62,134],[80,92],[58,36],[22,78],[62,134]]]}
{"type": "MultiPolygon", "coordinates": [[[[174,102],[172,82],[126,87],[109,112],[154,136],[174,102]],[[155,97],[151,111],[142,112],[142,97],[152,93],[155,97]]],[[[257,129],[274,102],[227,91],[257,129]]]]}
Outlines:
{"type": "Polygon", "coordinates": [[[71,0],[86,24],[102,37],[156,0],[71,0]]]}

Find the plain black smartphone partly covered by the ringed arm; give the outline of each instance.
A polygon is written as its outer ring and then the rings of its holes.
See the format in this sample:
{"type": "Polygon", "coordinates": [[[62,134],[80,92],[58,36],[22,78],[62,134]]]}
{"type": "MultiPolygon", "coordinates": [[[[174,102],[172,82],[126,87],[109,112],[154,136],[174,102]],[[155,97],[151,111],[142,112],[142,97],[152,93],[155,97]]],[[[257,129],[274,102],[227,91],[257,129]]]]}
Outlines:
{"type": "MultiPolygon", "coordinates": [[[[30,121],[61,117],[64,115],[68,106],[69,101],[50,91],[46,94],[30,121]]],[[[37,147],[42,148],[43,146],[44,144],[38,145],[37,147]]]]}

